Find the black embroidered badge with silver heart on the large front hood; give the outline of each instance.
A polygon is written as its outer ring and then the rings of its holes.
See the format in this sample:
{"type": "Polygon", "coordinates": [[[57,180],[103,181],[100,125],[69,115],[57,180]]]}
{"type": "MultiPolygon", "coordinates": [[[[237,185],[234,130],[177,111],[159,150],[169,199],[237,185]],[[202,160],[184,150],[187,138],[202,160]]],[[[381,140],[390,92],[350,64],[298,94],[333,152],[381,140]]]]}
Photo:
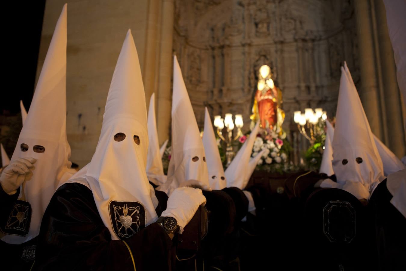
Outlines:
{"type": "Polygon", "coordinates": [[[117,237],[125,239],[145,228],[147,217],[145,207],[140,202],[119,202],[109,204],[111,224],[117,237]]]}

